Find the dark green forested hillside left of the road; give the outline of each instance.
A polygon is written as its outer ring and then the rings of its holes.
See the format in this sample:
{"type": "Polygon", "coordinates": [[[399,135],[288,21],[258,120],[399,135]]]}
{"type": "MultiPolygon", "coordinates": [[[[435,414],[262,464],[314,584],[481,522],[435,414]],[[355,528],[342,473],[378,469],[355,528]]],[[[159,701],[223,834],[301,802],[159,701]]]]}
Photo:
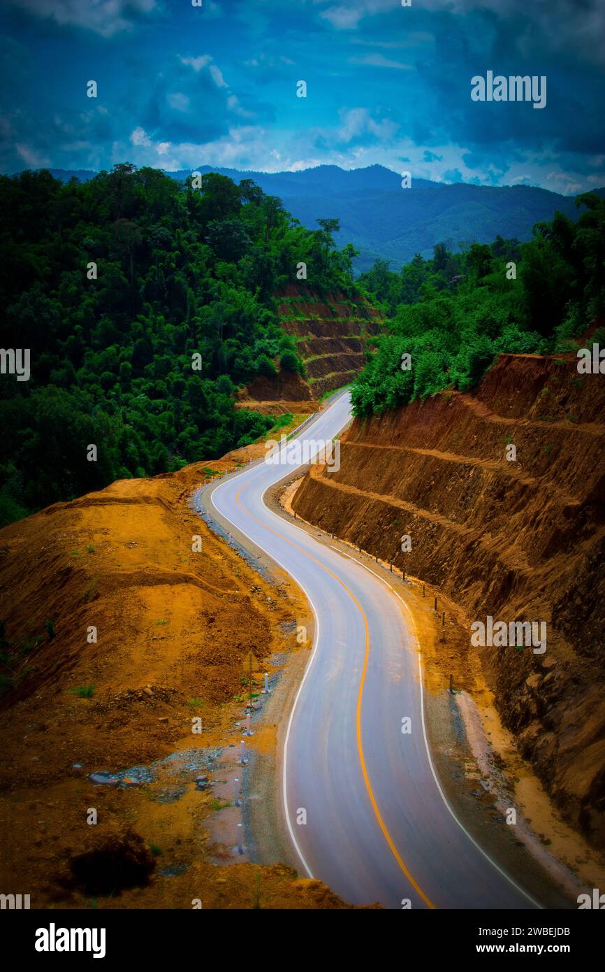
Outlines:
{"type": "Polygon", "coordinates": [[[130,164],[0,177],[1,342],[31,355],[28,381],[0,376],[0,526],[265,434],[234,393],[303,371],[275,295],[299,262],[315,292],[352,292],[336,221],[308,230],[249,179],[199,182],[130,164]]]}

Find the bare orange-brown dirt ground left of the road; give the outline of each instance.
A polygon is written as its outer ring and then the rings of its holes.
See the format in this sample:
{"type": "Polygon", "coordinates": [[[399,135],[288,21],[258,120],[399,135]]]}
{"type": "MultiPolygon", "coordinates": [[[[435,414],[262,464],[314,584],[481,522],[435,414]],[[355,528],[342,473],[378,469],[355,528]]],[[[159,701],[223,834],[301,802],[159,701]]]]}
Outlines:
{"type": "Polygon", "coordinates": [[[239,746],[242,661],[271,673],[300,609],[189,509],[227,466],[122,480],[0,531],[0,889],[32,908],[345,907],[285,865],[216,863],[238,859],[213,838],[212,787],[239,746]]]}

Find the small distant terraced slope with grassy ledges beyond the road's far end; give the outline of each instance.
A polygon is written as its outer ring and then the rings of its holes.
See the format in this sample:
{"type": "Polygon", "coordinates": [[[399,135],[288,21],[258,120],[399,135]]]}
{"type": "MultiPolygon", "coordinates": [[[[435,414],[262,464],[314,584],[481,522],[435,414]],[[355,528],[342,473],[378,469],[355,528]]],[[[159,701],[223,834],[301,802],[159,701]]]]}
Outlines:
{"type": "Polygon", "coordinates": [[[361,296],[319,296],[290,284],[278,297],[282,327],[296,339],[313,398],[347,385],[365,364],[365,342],[380,311],[361,296]]]}

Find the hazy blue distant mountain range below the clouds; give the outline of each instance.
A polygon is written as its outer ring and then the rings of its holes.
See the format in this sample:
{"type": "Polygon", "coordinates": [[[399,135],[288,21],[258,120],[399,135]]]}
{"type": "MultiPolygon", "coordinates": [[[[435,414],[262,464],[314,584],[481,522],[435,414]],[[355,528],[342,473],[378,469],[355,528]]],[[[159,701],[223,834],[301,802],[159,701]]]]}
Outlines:
{"type": "MultiPolygon", "coordinates": [[[[490,243],[499,233],[520,240],[531,237],[535,223],[551,220],[558,209],[570,219],[578,215],[573,196],[534,186],[448,186],[427,179],[412,179],[401,189],[401,178],[382,165],[341,169],[319,165],[301,172],[245,172],[201,165],[197,170],[168,172],[174,179],[189,179],[192,171],[219,172],[235,182],[252,179],[270,195],[278,195],[286,209],[303,226],[317,228],[317,220],[340,220],[337,242],[351,242],[359,250],[357,269],[365,270],[379,257],[397,270],[416,253],[428,257],[436,243],[490,243]]],[[[50,169],[67,182],[96,173],[88,170],[50,169]]],[[[595,190],[605,195],[605,188],[595,190]]]]}

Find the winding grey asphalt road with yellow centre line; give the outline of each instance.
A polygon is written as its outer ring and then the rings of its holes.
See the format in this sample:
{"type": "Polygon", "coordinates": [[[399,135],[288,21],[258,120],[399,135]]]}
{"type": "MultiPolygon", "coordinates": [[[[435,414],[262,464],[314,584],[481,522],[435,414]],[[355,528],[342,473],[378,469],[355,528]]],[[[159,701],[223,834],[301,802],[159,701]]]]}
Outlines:
{"type": "MultiPolygon", "coordinates": [[[[350,417],[345,393],[300,436],[330,440],[350,417]]],[[[466,832],[441,790],[410,612],[378,574],[265,505],[263,494],[287,472],[261,462],[233,473],[208,505],[294,578],[315,613],[283,759],[284,813],[301,873],[353,904],[539,907],[466,832]]]]}

